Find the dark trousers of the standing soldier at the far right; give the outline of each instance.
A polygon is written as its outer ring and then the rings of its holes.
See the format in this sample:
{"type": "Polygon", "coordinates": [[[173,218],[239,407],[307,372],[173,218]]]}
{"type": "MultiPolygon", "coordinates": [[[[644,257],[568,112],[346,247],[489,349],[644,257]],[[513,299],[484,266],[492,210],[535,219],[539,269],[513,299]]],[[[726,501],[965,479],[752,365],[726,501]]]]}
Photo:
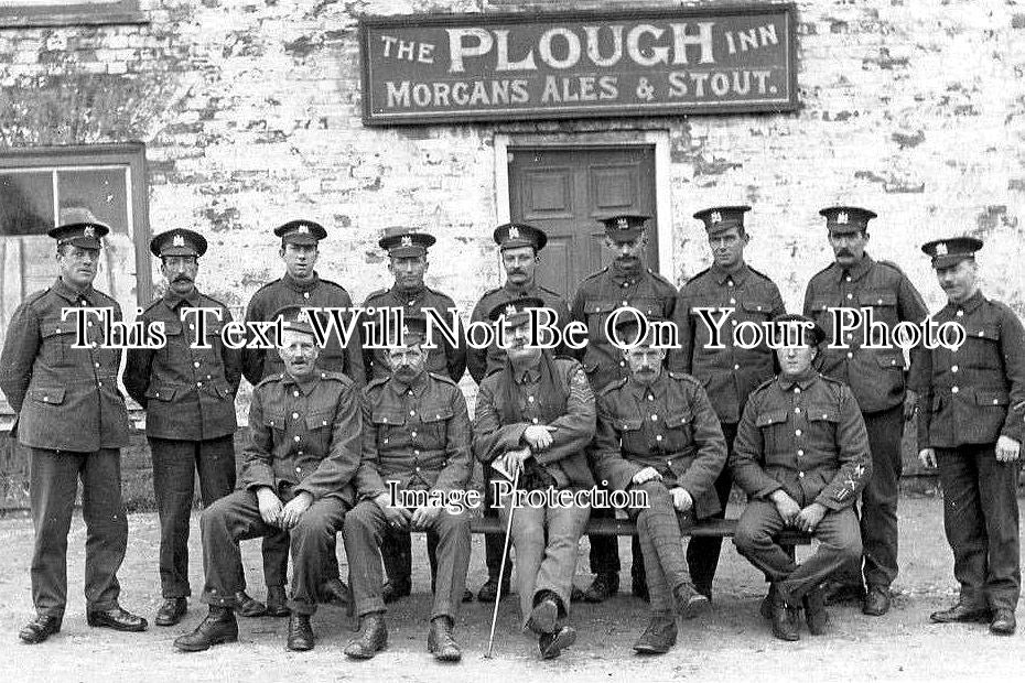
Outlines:
{"type": "Polygon", "coordinates": [[[943,529],[961,601],[1013,610],[1022,590],[1018,554],[1019,463],[1001,463],[994,444],[937,448],[943,529]]]}

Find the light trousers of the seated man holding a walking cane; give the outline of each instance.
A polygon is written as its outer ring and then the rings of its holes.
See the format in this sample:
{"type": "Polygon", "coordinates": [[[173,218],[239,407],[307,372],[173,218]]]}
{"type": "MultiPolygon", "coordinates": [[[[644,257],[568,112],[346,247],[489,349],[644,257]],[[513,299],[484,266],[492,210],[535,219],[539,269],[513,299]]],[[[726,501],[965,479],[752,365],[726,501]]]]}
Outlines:
{"type": "MultiPolygon", "coordinates": [[[[508,523],[512,497],[504,502],[499,513],[503,527],[508,523]]],[[[590,506],[525,506],[512,510],[516,589],[525,626],[535,607],[535,598],[542,590],[558,595],[569,614],[573,575],[576,573],[576,550],[590,518],[590,506]]]]}

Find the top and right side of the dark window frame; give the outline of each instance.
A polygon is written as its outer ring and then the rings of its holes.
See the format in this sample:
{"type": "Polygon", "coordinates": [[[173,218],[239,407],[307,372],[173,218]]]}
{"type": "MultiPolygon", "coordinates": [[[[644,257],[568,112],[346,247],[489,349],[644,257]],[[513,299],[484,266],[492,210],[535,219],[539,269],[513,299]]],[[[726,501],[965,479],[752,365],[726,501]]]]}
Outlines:
{"type": "Polygon", "coordinates": [[[9,169],[53,169],[54,166],[128,166],[131,196],[132,246],[136,250],[136,305],[153,297],[150,263],[150,202],[145,177],[145,144],[121,142],[67,147],[9,148],[0,151],[0,171],[9,169]]]}

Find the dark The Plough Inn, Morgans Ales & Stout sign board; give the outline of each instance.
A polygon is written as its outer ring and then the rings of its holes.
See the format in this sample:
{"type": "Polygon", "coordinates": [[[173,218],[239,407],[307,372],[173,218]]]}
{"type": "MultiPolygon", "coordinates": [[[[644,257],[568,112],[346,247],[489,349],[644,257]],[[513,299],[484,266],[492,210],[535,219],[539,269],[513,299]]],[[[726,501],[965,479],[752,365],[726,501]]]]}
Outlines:
{"type": "Polygon", "coordinates": [[[359,22],[364,123],[792,111],[792,3],[359,22]]]}

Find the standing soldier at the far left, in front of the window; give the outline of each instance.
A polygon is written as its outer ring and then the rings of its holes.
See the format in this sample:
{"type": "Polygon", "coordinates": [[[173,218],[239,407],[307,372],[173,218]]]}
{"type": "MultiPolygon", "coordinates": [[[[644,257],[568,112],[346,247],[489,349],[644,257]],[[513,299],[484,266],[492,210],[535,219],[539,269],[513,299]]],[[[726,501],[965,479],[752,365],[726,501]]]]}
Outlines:
{"type": "Polygon", "coordinates": [[[36,617],[19,637],[39,643],[61,631],[67,604],[67,532],[82,479],[86,522],[86,620],[89,626],[143,631],[145,619],[118,605],[117,573],[125,559],[128,520],[121,503],[120,448],[128,445],[128,411],[118,391],[121,351],[109,348],[104,325],[86,319],[86,346],[76,348],[75,316],[65,311],[102,308],[121,319],[118,303],[93,289],[100,238],[97,223],[62,225],[60,277],[31,294],[11,317],[0,354],[0,390],[18,418],[11,435],[29,449],[29,494],[35,548],[32,603],[36,617]]]}

